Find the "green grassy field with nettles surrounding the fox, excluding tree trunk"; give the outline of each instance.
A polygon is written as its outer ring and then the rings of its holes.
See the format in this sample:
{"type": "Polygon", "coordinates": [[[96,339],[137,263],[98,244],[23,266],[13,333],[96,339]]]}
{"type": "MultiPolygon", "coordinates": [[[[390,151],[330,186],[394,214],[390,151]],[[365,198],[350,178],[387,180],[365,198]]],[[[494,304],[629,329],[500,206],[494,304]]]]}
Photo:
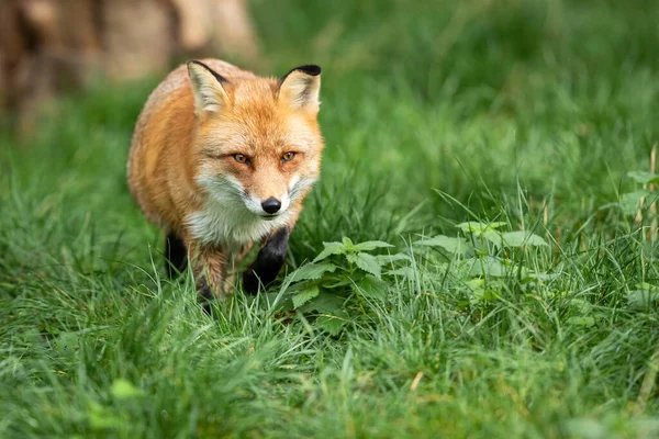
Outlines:
{"type": "Polygon", "coordinates": [[[272,3],[322,181],[216,318],[125,182],[159,78],[0,131],[0,437],[659,437],[659,3],[272,3]]]}

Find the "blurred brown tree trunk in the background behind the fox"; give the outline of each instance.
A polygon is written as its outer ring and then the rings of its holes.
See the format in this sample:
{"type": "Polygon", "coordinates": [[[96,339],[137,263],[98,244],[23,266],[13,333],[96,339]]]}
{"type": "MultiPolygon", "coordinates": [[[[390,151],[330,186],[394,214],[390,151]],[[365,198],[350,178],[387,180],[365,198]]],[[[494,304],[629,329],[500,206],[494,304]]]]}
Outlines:
{"type": "Polygon", "coordinates": [[[58,91],[164,72],[182,55],[257,63],[246,1],[0,1],[0,104],[27,121],[58,91]]]}

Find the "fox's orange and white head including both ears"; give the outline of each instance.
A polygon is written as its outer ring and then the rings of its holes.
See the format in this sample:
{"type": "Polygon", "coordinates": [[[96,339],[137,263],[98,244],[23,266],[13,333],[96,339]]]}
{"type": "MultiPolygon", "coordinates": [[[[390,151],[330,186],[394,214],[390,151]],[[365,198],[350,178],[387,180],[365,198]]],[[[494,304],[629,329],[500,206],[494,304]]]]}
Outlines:
{"type": "Polygon", "coordinates": [[[279,80],[230,81],[200,61],[189,61],[188,74],[197,117],[198,183],[227,209],[264,219],[284,215],[320,173],[321,68],[297,67],[279,80]]]}

